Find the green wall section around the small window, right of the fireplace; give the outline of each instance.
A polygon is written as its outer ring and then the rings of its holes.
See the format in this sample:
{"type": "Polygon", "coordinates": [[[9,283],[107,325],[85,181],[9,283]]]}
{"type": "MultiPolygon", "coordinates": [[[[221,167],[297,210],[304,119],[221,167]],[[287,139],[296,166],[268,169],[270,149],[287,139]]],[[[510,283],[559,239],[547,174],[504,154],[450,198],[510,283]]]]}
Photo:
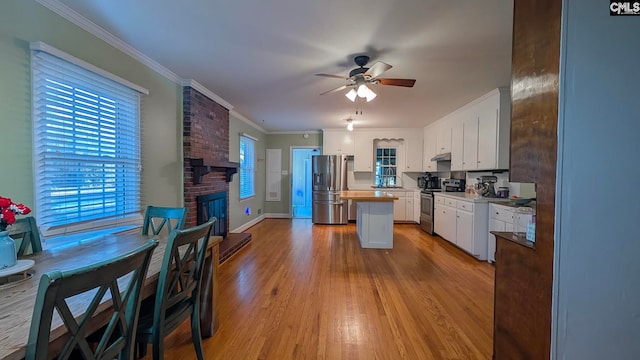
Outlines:
{"type": "Polygon", "coordinates": [[[267,146],[267,135],[257,130],[255,127],[234,117],[233,112],[229,114],[229,161],[240,161],[240,133],[248,134],[256,139],[256,196],[240,200],[240,174],[235,174],[229,183],[229,230],[254,220],[264,214],[265,199],[265,154],[267,146]],[[249,208],[251,213],[245,214],[245,209],[249,208]]]}

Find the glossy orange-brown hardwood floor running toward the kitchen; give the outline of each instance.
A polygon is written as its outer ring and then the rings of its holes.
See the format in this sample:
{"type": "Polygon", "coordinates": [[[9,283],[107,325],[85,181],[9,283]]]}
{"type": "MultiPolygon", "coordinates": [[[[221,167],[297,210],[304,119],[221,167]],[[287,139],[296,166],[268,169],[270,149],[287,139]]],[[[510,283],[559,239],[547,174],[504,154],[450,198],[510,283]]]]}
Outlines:
{"type": "MultiPolygon", "coordinates": [[[[267,219],[221,267],[207,359],[490,359],[494,269],[417,225],[392,250],[361,249],[354,224],[267,219]]],[[[167,359],[195,358],[188,323],[167,359]]]]}

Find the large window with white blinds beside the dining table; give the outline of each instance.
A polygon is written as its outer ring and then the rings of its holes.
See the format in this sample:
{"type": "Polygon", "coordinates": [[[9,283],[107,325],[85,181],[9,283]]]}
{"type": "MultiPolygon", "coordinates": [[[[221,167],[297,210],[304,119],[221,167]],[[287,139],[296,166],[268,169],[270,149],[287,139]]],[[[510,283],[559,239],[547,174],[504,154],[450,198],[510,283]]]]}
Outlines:
{"type": "Polygon", "coordinates": [[[31,66],[35,198],[44,235],[139,218],[140,93],[40,50],[32,51],[31,66]]]}

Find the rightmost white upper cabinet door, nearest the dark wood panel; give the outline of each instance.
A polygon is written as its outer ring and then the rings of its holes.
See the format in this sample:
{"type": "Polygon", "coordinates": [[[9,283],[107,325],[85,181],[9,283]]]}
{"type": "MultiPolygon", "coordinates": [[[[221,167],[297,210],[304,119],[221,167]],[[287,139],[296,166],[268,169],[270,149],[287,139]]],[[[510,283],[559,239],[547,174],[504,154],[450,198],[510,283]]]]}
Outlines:
{"type": "Polygon", "coordinates": [[[499,100],[493,98],[478,104],[478,170],[498,166],[498,107],[499,100]]]}

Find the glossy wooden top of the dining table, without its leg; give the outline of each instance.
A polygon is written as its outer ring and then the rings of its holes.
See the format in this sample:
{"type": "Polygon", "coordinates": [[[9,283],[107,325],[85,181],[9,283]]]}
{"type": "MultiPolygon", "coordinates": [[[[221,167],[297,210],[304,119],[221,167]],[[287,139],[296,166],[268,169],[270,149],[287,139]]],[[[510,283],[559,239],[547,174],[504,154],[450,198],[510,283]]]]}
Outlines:
{"type": "MultiPolygon", "coordinates": [[[[28,270],[33,274],[32,278],[17,285],[7,284],[0,288],[0,359],[24,358],[33,307],[42,274],[52,270],[71,270],[114,258],[136,249],[149,238],[151,237],[131,232],[109,234],[23,257],[35,261],[34,267],[28,270]]],[[[155,293],[166,248],[167,236],[156,238],[159,240],[159,244],[153,252],[149,264],[143,297],[155,293]]],[[[212,237],[209,246],[217,244],[220,240],[220,237],[212,237]]],[[[72,313],[80,315],[86,309],[85,304],[91,299],[91,296],[92,294],[82,294],[69,301],[72,313]]],[[[108,305],[103,306],[102,309],[99,308],[102,311],[107,309],[108,305]]],[[[53,329],[51,341],[65,333],[61,319],[55,312],[51,328],[53,329]]]]}

